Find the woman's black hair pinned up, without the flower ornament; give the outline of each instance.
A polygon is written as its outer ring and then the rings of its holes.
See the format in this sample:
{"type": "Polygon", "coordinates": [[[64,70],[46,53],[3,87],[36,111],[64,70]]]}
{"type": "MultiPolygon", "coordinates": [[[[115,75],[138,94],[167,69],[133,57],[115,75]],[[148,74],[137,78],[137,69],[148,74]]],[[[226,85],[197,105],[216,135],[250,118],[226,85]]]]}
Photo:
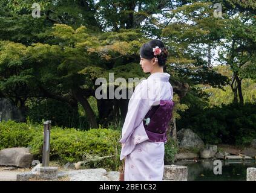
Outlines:
{"type": "Polygon", "coordinates": [[[157,57],[159,66],[164,66],[168,57],[168,51],[165,48],[165,45],[160,40],[151,40],[147,43],[144,43],[140,48],[140,56],[145,59],[153,59],[154,57],[157,57]],[[162,50],[160,55],[154,55],[153,48],[156,48],[156,46],[159,46],[159,48],[162,50]]]}

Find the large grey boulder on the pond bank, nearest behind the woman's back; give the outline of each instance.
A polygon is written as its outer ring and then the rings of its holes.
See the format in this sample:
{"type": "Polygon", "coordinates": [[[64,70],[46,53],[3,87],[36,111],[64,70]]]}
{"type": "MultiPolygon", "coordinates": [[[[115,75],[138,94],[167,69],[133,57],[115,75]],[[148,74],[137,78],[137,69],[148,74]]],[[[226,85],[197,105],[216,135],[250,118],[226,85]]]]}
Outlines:
{"type": "Polygon", "coordinates": [[[178,131],[177,139],[181,148],[203,148],[205,145],[202,139],[189,128],[182,128],[182,130],[178,131]]]}

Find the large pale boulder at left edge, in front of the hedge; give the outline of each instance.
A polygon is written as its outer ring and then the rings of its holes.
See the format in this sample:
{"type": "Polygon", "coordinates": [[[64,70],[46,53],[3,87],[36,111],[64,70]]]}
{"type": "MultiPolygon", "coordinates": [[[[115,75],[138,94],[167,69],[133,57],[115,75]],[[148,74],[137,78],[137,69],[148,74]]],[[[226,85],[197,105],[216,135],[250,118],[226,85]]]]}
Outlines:
{"type": "Polygon", "coordinates": [[[33,161],[33,155],[28,148],[7,148],[0,151],[0,165],[28,168],[33,161]]]}

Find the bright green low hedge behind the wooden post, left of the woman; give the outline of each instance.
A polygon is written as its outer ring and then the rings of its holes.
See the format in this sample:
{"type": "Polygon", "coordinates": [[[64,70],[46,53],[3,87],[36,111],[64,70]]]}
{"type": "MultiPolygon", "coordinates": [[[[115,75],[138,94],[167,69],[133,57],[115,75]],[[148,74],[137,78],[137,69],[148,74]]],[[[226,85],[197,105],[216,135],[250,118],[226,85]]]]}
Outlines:
{"type": "MultiPolygon", "coordinates": [[[[0,148],[30,147],[35,159],[42,160],[42,125],[0,123],[0,148]]],[[[74,128],[52,127],[50,134],[50,159],[60,163],[79,162],[83,156],[113,156],[90,163],[90,167],[116,171],[121,164],[119,143],[120,133],[106,128],[79,131],[74,128]]]]}

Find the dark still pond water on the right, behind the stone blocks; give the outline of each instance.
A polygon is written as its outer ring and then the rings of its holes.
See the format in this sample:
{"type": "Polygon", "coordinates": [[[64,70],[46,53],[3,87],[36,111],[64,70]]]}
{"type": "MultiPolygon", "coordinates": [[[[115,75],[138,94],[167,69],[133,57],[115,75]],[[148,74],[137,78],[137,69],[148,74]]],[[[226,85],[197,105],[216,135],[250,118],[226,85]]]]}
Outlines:
{"type": "Polygon", "coordinates": [[[221,160],[222,174],[214,174],[214,159],[178,160],[172,164],[188,166],[188,181],[246,181],[246,169],[256,168],[256,160],[221,160]]]}

